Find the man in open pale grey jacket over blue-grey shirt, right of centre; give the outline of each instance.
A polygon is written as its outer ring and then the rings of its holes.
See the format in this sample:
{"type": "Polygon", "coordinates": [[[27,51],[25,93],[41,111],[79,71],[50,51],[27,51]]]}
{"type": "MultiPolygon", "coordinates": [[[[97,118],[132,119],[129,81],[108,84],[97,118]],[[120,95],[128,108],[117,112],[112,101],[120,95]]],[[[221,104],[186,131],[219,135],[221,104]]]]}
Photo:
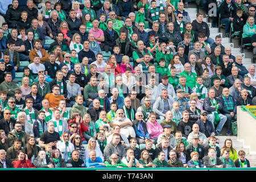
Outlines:
{"type": "Polygon", "coordinates": [[[166,117],[166,111],[172,110],[172,103],[174,102],[174,99],[172,97],[168,96],[168,90],[162,89],[161,96],[159,96],[155,104],[153,106],[153,110],[155,113],[160,117],[160,119],[164,119],[166,117]]]}

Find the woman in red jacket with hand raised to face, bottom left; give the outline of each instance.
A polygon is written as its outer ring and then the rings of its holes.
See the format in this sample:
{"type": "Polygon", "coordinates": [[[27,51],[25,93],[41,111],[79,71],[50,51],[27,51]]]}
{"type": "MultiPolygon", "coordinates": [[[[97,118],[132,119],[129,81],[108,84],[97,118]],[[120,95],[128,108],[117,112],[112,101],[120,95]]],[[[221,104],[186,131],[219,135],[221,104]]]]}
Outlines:
{"type": "Polygon", "coordinates": [[[27,154],[22,150],[18,151],[16,160],[11,162],[11,164],[13,164],[14,168],[35,168],[30,159],[28,159],[27,154]]]}

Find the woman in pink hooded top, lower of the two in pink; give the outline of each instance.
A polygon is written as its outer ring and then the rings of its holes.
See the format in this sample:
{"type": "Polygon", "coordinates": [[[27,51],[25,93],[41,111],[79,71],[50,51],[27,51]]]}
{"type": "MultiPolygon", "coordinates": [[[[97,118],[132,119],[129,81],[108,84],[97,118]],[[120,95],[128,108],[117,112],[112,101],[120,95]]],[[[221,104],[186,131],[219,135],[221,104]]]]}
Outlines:
{"type": "Polygon", "coordinates": [[[156,121],[156,114],[150,113],[149,121],[146,123],[148,134],[150,139],[155,140],[155,143],[158,140],[158,136],[163,133],[163,127],[156,121]]]}

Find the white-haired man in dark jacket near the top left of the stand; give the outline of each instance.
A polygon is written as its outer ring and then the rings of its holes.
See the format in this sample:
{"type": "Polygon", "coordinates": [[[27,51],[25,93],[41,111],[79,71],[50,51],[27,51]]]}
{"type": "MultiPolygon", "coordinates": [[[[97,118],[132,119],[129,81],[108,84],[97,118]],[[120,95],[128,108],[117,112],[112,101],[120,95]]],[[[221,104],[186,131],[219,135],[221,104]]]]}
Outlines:
{"type": "Polygon", "coordinates": [[[49,15],[51,18],[49,18],[47,23],[52,30],[53,38],[56,39],[57,33],[59,32],[61,20],[60,18],[58,18],[58,13],[56,10],[52,10],[49,15]]]}

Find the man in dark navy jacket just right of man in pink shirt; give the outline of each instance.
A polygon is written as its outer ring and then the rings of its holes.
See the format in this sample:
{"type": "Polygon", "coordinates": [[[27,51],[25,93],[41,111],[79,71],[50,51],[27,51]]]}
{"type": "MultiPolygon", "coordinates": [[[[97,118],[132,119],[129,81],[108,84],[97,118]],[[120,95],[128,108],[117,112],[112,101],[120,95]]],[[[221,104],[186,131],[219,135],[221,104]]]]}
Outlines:
{"type": "Polygon", "coordinates": [[[117,31],[113,30],[112,20],[108,20],[107,26],[108,28],[104,31],[104,37],[105,37],[104,44],[105,44],[105,49],[109,51],[109,50],[113,50],[113,47],[115,46],[115,40],[118,39],[118,34],[117,34],[117,31]]]}

